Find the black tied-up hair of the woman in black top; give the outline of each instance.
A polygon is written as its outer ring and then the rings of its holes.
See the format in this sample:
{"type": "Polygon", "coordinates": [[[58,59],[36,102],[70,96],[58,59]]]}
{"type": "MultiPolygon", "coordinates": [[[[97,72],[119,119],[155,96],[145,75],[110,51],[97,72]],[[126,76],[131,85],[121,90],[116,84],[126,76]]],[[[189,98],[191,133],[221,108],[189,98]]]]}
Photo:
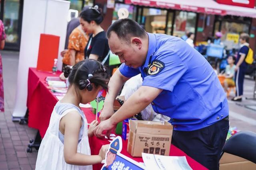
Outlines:
{"type": "Polygon", "coordinates": [[[82,18],[84,21],[87,21],[88,23],[90,23],[91,21],[95,21],[98,25],[100,25],[100,23],[102,23],[103,21],[101,10],[93,8],[83,10],[80,13],[79,17],[82,18]]]}

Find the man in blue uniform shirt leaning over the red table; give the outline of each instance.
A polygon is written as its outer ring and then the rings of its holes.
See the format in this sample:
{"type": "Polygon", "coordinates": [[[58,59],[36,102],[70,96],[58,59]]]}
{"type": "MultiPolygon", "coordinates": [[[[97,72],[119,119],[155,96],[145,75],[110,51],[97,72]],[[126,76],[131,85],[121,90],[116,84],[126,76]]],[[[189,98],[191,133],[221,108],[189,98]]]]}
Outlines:
{"type": "Polygon", "coordinates": [[[114,22],[107,37],[122,65],[108,84],[102,122],[94,129],[95,135],[109,135],[118,122],[152,103],[156,113],[171,118],[172,144],[206,168],[218,169],[229,109],[226,94],[206,59],[182,39],[146,33],[130,19],[114,22]],[[114,113],[114,99],[122,84],[139,73],[142,86],[114,113]]]}

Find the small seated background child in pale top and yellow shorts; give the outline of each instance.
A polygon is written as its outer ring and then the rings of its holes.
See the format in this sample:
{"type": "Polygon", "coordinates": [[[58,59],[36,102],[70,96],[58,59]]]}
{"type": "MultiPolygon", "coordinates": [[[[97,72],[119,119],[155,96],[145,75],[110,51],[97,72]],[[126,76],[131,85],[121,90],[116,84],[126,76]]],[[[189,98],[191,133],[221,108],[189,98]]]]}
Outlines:
{"type": "Polygon", "coordinates": [[[234,64],[236,61],[236,57],[234,56],[229,56],[228,57],[228,65],[226,66],[225,69],[225,80],[224,80],[224,90],[225,92],[228,91],[228,87],[234,87],[235,82],[234,82],[234,75],[235,75],[235,68],[236,65],[234,64]]]}

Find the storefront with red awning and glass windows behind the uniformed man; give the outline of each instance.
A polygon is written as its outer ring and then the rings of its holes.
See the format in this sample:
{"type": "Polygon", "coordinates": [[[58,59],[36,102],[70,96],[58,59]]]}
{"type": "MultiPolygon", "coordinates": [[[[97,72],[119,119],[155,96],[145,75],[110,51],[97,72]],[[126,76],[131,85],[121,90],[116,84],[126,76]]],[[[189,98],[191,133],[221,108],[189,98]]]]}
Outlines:
{"type": "MultiPolygon", "coordinates": [[[[118,19],[118,10],[126,8],[128,18],[137,21],[147,32],[177,37],[192,32],[196,35],[194,42],[200,42],[221,31],[222,41],[234,41],[232,45],[238,47],[240,33],[248,33],[251,38],[255,35],[256,10],[248,7],[219,4],[214,0],[116,0],[112,22],[118,19]]],[[[250,44],[254,49],[255,41],[250,44]]]]}

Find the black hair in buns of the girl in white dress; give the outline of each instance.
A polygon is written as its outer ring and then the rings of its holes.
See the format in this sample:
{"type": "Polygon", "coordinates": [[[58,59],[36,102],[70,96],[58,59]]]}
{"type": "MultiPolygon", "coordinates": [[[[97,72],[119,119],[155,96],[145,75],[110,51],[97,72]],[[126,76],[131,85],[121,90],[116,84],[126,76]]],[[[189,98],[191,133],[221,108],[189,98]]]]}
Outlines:
{"type": "Polygon", "coordinates": [[[70,85],[74,84],[80,90],[86,88],[91,91],[93,88],[91,83],[94,83],[96,87],[102,86],[103,89],[108,90],[108,73],[104,66],[94,59],[79,61],[72,69],[70,66],[66,66],[63,72],[64,76],[68,77],[70,85]]]}

